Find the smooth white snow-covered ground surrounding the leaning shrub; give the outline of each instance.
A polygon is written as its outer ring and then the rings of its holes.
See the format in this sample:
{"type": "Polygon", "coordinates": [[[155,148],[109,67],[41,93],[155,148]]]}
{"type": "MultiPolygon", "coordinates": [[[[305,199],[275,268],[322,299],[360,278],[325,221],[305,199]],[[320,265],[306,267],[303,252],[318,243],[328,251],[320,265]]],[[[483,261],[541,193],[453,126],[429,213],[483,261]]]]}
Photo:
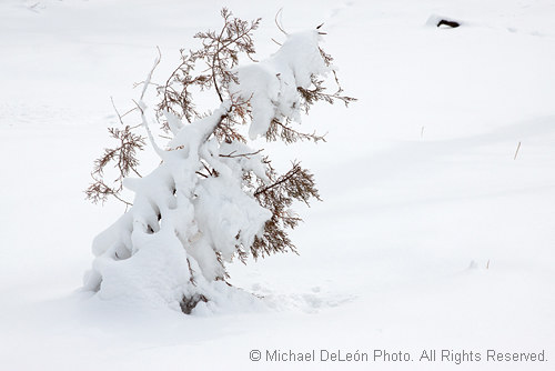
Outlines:
{"type": "Polygon", "coordinates": [[[551,0],[2,0],[0,370],[554,370],[554,20],[551,0]],[[92,239],[124,211],[83,193],[110,97],[129,108],[155,47],[162,80],[222,6],[263,18],[260,59],[280,8],[290,32],[324,22],[359,101],[303,119],[327,143],[266,146],[324,202],[297,205],[300,255],[229,267],[253,303],[91,297],[92,239]]]}

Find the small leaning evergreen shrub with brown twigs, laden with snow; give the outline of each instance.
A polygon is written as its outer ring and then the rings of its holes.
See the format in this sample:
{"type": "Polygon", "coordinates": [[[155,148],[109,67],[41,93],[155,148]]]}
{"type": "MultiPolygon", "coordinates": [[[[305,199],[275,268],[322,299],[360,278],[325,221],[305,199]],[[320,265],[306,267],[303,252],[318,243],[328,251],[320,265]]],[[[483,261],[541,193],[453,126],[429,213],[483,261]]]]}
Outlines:
{"type": "Polygon", "coordinates": [[[129,210],[93,241],[97,258],[84,287],[101,299],[144,301],[185,313],[200,302],[203,308],[224,304],[234,290],[225,282],[225,263],[295,251],[286,230],[300,218],[291,207],[295,200],[319,199],[313,176],[299,162],[279,174],[262,149],[249,142],[259,137],[286,143],[322,140],[291,123],[319,100],[353,100],[341,89],[325,92],[323,79],[334,70],[319,47],[323,33],[287,34],[266,60],[239,67],[241,53],[252,59],[251,33],[260,20],[246,22],[225,9],[222,17],[219,32],[195,36],[201,49],[182,50],[181,63],[158,86],[161,101],[150,114],[143,98],[157,60],[137,102],[142,124],[124,126],[120,116],[123,129],[110,129],[119,146],[94,163],[94,183],[87,190],[92,201],[120,198],[123,188],[135,194],[129,210]],[[210,90],[219,107],[201,113],[193,93],[210,90]],[[165,149],[157,144],[149,116],[171,136],[165,149]],[[137,130],[145,130],[148,138],[137,130]],[[141,178],[137,154],[148,141],[161,164],[141,178]],[[110,164],[119,171],[113,184],[104,181],[110,164]]]}

